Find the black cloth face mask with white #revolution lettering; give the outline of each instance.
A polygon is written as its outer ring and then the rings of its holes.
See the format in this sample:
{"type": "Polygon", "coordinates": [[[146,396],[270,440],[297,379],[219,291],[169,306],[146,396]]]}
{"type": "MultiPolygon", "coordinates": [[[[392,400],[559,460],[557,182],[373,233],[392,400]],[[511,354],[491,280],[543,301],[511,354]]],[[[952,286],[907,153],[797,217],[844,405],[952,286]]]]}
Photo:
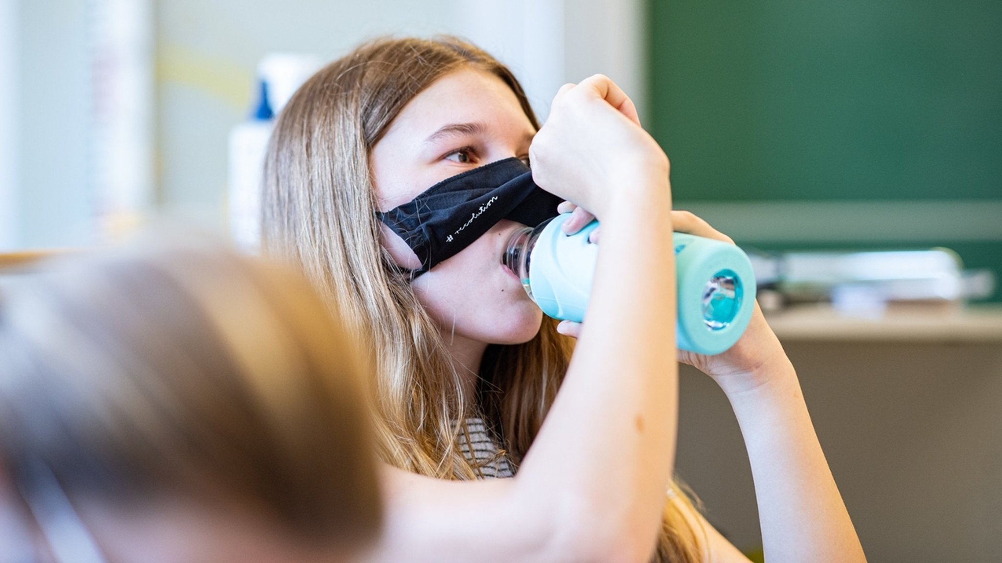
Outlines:
{"type": "Polygon", "coordinates": [[[440,181],[376,215],[417,254],[417,275],[469,246],[501,219],[536,226],[555,217],[560,201],[532,181],[525,162],[506,158],[440,181]]]}

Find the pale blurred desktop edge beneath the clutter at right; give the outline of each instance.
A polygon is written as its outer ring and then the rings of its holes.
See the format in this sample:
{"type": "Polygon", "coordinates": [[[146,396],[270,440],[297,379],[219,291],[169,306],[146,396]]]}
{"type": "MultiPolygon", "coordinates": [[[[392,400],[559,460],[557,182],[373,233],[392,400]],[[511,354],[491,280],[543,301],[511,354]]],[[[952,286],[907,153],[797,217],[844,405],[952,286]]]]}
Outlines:
{"type": "Polygon", "coordinates": [[[828,306],[800,306],[767,315],[787,342],[1002,343],[1002,306],[956,311],[895,310],[878,319],[848,317],[828,306]]]}

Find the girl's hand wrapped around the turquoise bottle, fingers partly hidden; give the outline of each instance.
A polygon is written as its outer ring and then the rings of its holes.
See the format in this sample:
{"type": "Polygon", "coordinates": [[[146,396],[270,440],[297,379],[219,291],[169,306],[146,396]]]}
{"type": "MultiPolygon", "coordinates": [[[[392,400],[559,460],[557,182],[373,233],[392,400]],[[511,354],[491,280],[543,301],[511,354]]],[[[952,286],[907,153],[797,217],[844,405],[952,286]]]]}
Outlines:
{"type": "MultiPolygon", "coordinates": [[[[572,212],[571,217],[563,225],[563,231],[568,234],[577,232],[594,218],[594,215],[570,201],[564,201],[557,209],[560,212],[572,212]]],[[[729,236],[688,211],[671,211],[671,225],[672,229],[678,232],[734,243],[729,236]]],[[[592,231],[590,238],[593,242],[598,241],[600,230],[601,227],[598,227],[592,231]]],[[[581,325],[570,321],[563,321],[557,326],[557,332],[573,338],[577,338],[580,331],[581,325]]],[[[747,329],[729,350],[716,356],[679,350],[678,361],[713,378],[727,394],[758,387],[769,379],[771,373],[781,372],[771,367],[789,363],[780,340],[766,323],[758,303],[747,329]]]]}

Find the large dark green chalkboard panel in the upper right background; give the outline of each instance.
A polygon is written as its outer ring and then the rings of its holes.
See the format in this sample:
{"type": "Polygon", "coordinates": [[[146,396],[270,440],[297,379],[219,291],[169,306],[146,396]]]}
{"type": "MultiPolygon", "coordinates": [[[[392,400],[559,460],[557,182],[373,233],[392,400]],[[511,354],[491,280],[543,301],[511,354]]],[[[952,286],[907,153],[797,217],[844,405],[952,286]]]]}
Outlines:
{"type": "Polygon", "coordinates": [[[1002,198],[1002,0],[648,0],[677,199],[1002,198]]]}

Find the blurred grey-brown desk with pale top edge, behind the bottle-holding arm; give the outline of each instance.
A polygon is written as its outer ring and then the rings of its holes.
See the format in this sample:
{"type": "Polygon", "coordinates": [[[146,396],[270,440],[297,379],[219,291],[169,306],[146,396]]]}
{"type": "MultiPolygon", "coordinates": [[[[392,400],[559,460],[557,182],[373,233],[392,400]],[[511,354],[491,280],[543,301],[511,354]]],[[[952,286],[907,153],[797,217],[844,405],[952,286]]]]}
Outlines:
{"type": "MultiPolygon", "coordinates": [[[[1002,307],[767,318],[870,561],[1002,561],[1002,307]]],[[[678,473],[710,522],[756,548],[752,471],[730,405],[706,376],[680,372],[678,473]]]]}

